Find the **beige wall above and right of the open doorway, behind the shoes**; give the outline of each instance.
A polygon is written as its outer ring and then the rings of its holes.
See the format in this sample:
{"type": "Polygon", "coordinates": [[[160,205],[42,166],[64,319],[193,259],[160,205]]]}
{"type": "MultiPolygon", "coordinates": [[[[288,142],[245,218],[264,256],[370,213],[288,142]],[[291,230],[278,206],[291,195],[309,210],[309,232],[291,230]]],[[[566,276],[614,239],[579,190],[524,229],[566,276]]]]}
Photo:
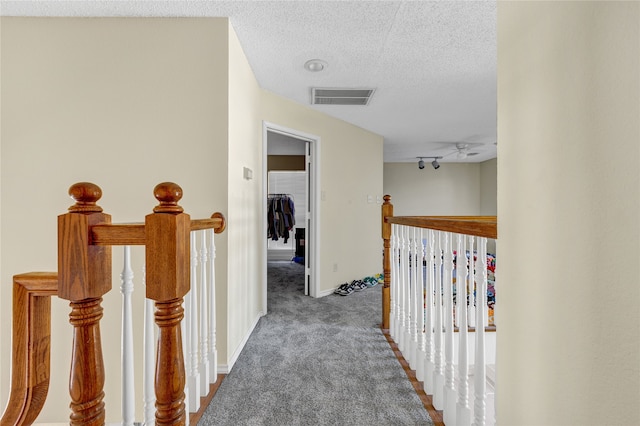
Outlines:
{"type": "Polygon", "coordinates": [[[262,114],[321,139],[320,292],[381,272],[382,137],[267,91],[262,114]]]}

